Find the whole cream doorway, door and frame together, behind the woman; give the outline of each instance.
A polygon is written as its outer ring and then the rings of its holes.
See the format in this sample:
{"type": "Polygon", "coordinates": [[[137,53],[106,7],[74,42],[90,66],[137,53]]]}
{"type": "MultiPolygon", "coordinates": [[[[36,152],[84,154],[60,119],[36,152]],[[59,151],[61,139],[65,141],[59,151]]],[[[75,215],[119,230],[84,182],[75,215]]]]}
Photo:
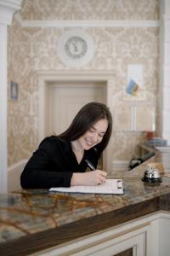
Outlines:
{"type": "MultiPolygon", "coordinates": [[[[104,102],[112,107],[112,71],[39,71],[38,83],[39,141],[53,132],[65,130],[77,110],[87,102],[104,102]]],[[[111,138],[103,156],[103,166],[107,172],[111,172],[112,168],[112,144],[111,138]]]]}

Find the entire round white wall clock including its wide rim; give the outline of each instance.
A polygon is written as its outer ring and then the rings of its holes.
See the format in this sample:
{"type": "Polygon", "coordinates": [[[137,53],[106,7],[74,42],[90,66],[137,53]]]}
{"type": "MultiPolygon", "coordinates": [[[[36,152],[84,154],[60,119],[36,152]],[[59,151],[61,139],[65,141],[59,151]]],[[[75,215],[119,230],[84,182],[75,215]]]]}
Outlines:
{"type": "Polygon", "coordinates": [[[68,67],[82,67],[94,56],[94,40],[81,29],[64,32],[57,43],[60,61],[68,67]]]}

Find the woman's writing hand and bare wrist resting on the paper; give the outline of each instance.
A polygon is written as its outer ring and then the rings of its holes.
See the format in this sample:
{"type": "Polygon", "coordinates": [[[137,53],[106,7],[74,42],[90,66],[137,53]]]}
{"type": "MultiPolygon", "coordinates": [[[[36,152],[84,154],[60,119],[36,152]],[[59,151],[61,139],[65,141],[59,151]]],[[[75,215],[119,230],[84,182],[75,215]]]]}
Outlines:
{"type": "Polygon", "coordinates": [[[83,185],[83,186],[95,186],[101,183],[105,183],[105,177],[107,172],[101,170],[95,170],[92,172],[74,172],[71,177],[71,186],[83,185]]]}

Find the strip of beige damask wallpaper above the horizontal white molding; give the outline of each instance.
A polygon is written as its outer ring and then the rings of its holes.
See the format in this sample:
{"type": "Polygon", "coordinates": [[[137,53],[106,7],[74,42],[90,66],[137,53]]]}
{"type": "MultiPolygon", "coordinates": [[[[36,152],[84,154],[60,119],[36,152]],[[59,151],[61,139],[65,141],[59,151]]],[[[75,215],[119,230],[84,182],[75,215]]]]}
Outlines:
{"type": "Polygon", "coordinates": [[[157,0],[25,0],[24,20],[157,20],[157,0]]]}

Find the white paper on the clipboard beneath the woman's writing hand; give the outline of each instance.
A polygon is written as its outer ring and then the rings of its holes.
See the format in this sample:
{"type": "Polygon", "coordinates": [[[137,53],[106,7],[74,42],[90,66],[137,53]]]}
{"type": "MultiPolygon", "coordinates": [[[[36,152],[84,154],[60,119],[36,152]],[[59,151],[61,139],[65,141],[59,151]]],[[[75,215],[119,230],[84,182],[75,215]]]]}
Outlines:
{"type": "Polygon", "coordinates": [[[97,186],[71,186],[70,188],[51,188],[49,192],[92,193],[92,194],[123,194],[122,179],[106,179],[97,186]]]}

